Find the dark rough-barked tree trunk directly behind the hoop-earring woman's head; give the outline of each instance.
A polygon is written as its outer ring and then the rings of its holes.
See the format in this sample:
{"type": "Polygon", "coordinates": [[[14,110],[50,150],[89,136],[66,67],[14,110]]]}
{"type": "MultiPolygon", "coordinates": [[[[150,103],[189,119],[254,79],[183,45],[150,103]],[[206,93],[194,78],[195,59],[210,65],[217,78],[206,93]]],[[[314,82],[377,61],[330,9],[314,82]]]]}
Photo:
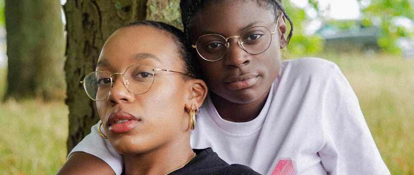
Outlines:
{"type": "Polygon", "coordinates": [[[67,149],[82,140],[99,120],[95,102],[85,94],[80,81],[93,71],[102,46],[119,26],[145,19],[146,0],[69,0],[64,6],[67,28],[65,64],[69,106],[67,149]]]}

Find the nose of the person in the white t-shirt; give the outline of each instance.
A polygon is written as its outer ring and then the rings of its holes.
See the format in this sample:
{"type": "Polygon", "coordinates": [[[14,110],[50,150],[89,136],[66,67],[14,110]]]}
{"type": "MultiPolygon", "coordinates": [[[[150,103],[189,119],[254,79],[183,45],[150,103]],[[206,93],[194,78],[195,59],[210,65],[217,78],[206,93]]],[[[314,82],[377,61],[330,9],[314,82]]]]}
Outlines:
{"type": "Polygon", "coordinates": [[[239,38],[231,39],[227,44],[229,44],[229,47],[223,58],[226,66],[241,67],[250,63],[250,53],[243,49],[239,43],[239,38]]]}

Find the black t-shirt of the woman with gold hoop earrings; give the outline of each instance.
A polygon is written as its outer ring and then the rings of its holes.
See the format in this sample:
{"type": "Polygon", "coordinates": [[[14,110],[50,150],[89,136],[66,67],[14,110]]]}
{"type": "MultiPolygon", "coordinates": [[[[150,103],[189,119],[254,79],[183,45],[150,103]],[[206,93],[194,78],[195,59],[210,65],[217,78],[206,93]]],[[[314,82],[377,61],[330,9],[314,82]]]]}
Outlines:
{"type": "Polygon", "coordinates": [[[190,163],[183,168],[177,169],[171,172],[171,175],[176,174],[197,174],[197,175],[214,175],[214,174],[231,174],[231,175],[256,175],[260,174],[250,167],[241,164],[229,165],[220,157],[217,153],[213,152],[211,148],[196,150],[193,149],[197,154],[190,163]]]}

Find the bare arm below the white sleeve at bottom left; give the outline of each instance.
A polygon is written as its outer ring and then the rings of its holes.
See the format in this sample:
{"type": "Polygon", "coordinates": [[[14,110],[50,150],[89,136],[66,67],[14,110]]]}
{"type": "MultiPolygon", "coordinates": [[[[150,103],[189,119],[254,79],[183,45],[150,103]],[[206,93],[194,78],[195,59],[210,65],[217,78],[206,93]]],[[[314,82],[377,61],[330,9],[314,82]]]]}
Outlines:
{"type": "Polygon", "coordinates": [[[115,174],[103,160],[84,152],[74,152],[63,164],[57,175],[70,174],[115,174]]]}

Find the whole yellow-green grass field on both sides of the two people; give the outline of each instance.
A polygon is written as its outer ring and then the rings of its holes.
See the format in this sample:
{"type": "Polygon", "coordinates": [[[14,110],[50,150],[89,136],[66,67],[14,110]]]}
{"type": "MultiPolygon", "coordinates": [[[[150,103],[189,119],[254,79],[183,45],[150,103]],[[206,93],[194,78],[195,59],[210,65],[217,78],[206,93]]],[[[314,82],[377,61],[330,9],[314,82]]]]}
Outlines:
{"type": "MultiPolygon", "coordinates": [[[[357,94],[392,174],[414,174],[414,60],[387,55],[324,55],[357,94]]],[[[0,97],[6,70],[0,68],[0,97]]],[[[66,160],[63,100],[0,103],[0,174],[55,174],[66,160]]]]}

